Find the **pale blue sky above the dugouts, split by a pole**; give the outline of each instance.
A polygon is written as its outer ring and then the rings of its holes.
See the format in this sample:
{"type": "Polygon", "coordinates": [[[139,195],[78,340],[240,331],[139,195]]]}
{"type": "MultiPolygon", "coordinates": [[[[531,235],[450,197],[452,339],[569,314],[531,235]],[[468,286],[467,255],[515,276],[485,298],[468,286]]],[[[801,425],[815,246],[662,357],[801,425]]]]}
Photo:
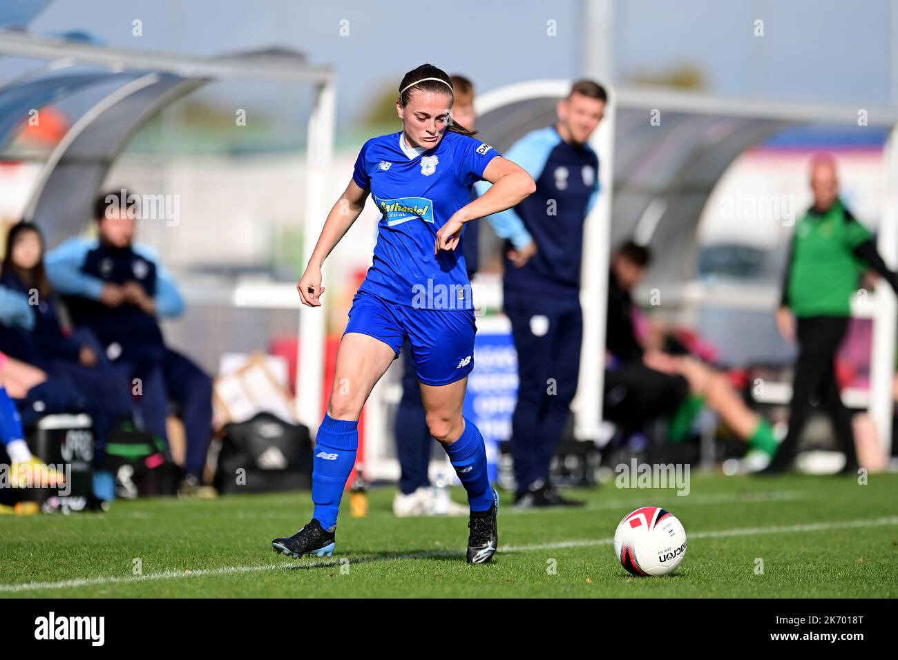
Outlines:
{"type": "MultiPolygon", "coordinates": [[[[198,55],[270,45],[300,49],[313,62],[336,66],[339,118],[346,121],[361,114],[373,92],[394,86],[423,61],[468,73],[481,90],[578,75],[579,18],[588,1],[55,0],[30,28],[88,31],[112,46],[198,55]],[[142,37],[131,34],[134,19],[143,22],[142,37]],[[558,36],[547,36],[550,20],[558,36]],[[349,36],[340,36],[341,21],[348,21],[349,36]]],[[[33,4],[7,3],[0,15],[33,4]]],[[[612,30],[616,77],[684,64],[704,72],[709,92],[858,106],[898,102],[889,48],[890,32],[898,33],[896,5],[619,0],[612,30]],[[758,19],[763,37],[753,35],[758,19]]],[[[27,21],[25,10],[20,20],[27,21]]],[[[8,75],[2,65],[0,75],[8,75]]]]}

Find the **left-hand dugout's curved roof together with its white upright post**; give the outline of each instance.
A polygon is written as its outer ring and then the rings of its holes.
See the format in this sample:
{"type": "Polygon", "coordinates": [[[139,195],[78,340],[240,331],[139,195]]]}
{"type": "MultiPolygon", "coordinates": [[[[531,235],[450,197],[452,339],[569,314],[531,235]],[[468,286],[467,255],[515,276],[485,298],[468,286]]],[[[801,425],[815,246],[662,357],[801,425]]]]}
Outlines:
{"type": "MultiPolygon", "coordinates": [[[[334,75],[330,66],[308,64],[302,53],[267,48],[222,57],[191,57],[4,32],[0,33],[0,56],[3,55],[45,63],[0,89],[0,106],[6,102],[19,110],[23,104],[30,105],[30,109],[40,108],[46,102],[40,103],[40,99],[64,96],[76,86],[72,77],[75,66],[99,69],[107,76],[104,83],[123,74],[112,85],[112,91],[107,85],[105,95],[75,121],[40,174],[28,213],[41,224],[50,247],[79,233],[90,216],[91,200],[98,186],[130,136],[166,105],[210,81],[237,79],[313,85],[313,111],[306,122],[305,157],[309,166],[305,172],[305,189],[307,192],[326,189],[324,178],[330,169],[333,145],[334,75]],[[57,79],[55,83],[38,82],[52,77],[57,79]]],[[[15,120],[6,129],[7,133],[21,126],[27,113],[11,119],[15,120]]],[[[321,195],[305,195],[306,235],[320,231],[318,218],[327,215],[327,208],[328,201],[321,195]]],[[[313,240],[304,242],[305,259],[311,256],[313,245],[313,240]]],[[[321,347],[325,342],[326,319],[322,314],[309,312],[307,308],[300,312],[303,340],[299,342],[297,359],[304,368],[297,371],[296,391],[304,394],[296,398],[296,412],[304,424],[316,428],[321,418],[324,374],[321,347]]]]}

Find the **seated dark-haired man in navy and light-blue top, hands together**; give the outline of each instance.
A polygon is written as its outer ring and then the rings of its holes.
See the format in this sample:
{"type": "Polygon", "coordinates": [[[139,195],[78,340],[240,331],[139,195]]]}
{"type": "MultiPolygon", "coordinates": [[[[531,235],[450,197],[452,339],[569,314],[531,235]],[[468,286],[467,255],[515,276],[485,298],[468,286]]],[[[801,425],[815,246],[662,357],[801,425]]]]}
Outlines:
{"type": "Polygon", "coordinates": [[[76,326],[90,328],[110,360],[139,379],[146,430],[163,438],[169,400],[180,409],[187,459],[179,494],[211,495],[202,486],[212,427],[212,380],[188,357],[168,348],[158,317],[184,309],[178,287],[152,251],[134,242],[136,198],[127,191],[102,194],[93,218],[98,238],[73,238],[47,255],[50,283],[62,295],[76,326]]]}

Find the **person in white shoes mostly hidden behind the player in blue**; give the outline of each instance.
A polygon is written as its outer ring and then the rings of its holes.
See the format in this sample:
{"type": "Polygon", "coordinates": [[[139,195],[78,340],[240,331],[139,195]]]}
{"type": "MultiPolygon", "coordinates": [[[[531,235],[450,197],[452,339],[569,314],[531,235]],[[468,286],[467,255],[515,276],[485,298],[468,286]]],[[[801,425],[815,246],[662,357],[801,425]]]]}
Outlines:
{"type": "MultiPolygon", "coordinates": [[[[463,127],[474,128],[474,85],[463,75],[451,76],[454,103],[452,107],[453,121],[463,127]]],[[[477,193],[471,190],[471,198],[477,193]]],[[[462,233],[462,250],[464,262],[468,270],[468,278],[474,277],[479,261],[478,239],[480,237],[480,220],[471,220],[464,225],[462,233]]],[[[430,487],[427,468],[434,439],[427,430],[427,419],[424,404],[421,401],[421,389],[415,361],[411,356],[409,344],[402,348],[402,398],[396,409],[396,458],[399,460],[399,491],[393,497],[393,515],[407,517],[410,515],[466,515],[468,507],[452,500],[446,503],[445,511],[437,511],[438,501],[434,489],[430,487]]]]}

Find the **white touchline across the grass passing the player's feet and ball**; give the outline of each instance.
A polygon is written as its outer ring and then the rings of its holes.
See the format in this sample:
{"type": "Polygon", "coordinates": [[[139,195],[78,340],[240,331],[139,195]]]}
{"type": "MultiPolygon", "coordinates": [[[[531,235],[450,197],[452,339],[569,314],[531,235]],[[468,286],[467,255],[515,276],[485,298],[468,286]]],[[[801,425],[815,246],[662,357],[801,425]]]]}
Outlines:
{"type": "MultiPolygon", "coordinates": [[[[828,532],[838,529],[852,529],[858,527],[885,527],[889,525],[898,525],[898,515],[890,515],[882,518],[870,518],[867,520],[845,520],[835,523],[806,523],[806,524],[790,524],[779,525],[774,527],[744,527],[742,529],[732,530],[715,530],[710,532],[692,532],[688,534],[689,539],[722,539],[729,536],[755,536],[759,534],[780,534],[795,532],[828,532]]],[[[510,545],[499,548],[499,552],[530,552],[533,550],[561,550],[564,548],[582,548],[596,545],[611,545],[614,540],[609,539],[583,539],[575,541],[556,541],[554,543],[540,543],[536,545],[510,545]]],[[[409,552],[408,554],[397,553],[385,557],[350,559],[352,564],[374,563],[380,561],[395,561],[397,559],[429,559],[436,557],[452,557],[461,555],[462,552],[455,550],[433,550],[429,552],[409,552]]],[[[0,593],[18,593],[23,591],[38,591],[40,589],[69,589],[81,586],[92,585],[120,585],[135,582],[147,582],[153,580],[169,580],[179,577],[196,577],[196,576],[224,576],[242,573],[258,573],[268,570],[285,570],[296,568],[327,568],[330,566],[338,566],[339,559],[329,559],[313,564],[291,563],[291,564],[265,564],[262,566],[230,566],[223,568],[198,568],[195,570],[167,570],[158,573],[148,573],[145,576],[100,576],[100,577],[81,577],[73,580],[62,580],[60,582],[25,582],[19,585],[0,585],[0,593]]]]}

